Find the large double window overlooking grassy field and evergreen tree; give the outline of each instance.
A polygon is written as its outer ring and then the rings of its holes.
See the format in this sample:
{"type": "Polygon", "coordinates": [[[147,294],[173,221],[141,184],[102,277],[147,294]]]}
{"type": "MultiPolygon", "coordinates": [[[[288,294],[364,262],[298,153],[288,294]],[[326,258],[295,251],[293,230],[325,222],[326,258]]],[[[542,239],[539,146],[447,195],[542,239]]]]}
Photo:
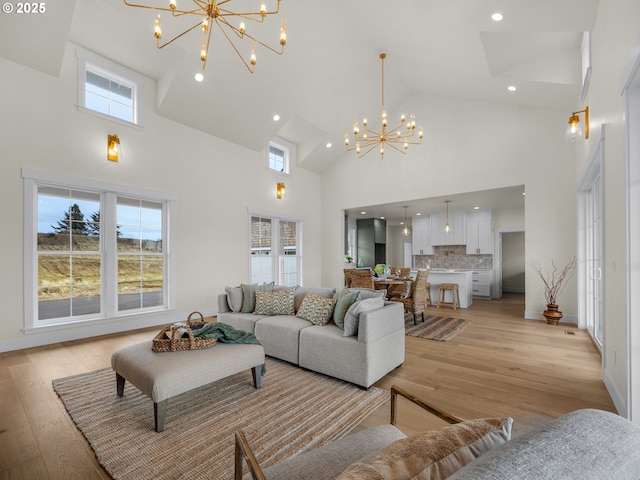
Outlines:
{"type": "Polygon", "coordinates": [[[26,331],[172,308],[171,196],[23,177],[26,331]]]}

